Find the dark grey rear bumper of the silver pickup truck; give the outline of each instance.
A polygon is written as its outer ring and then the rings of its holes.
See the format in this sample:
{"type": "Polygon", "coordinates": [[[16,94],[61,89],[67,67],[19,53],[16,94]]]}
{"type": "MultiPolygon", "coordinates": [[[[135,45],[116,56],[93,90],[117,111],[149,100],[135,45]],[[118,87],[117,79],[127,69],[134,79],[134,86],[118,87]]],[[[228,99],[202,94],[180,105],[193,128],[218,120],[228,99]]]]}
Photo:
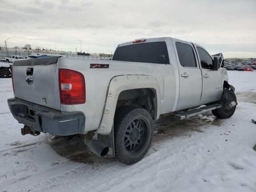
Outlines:
{"type": "Polygon", "coordinates": [[[61,112],[18,98],[8,99],[8,106],[14,118],[32,130],[60,136],[84,132],[82,112],[61,112]]]}

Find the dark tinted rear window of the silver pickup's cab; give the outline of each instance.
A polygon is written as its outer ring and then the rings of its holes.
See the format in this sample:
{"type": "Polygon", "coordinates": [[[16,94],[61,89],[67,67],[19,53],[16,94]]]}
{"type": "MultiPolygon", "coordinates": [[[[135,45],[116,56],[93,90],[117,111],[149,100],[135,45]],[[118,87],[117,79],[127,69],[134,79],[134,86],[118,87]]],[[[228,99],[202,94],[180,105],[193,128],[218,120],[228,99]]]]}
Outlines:
{"type": "Polygon", "coordinates": [[[139,43],[118,47],[112,60],[170,64],[165,42],[139,43]]]}

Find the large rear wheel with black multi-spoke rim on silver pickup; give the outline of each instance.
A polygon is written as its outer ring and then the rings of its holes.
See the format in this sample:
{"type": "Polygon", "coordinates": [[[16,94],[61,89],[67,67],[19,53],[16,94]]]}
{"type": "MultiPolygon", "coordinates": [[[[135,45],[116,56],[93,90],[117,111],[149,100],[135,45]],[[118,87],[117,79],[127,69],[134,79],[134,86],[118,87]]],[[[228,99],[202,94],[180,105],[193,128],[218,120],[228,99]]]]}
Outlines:
{"type": "Polygon", "coordinates": [[[139,162],[150,148],[153,130],[153,120],[147,110],[135,106],[123,106],[116,110],[115,158],[126,165],[139,162]]]}

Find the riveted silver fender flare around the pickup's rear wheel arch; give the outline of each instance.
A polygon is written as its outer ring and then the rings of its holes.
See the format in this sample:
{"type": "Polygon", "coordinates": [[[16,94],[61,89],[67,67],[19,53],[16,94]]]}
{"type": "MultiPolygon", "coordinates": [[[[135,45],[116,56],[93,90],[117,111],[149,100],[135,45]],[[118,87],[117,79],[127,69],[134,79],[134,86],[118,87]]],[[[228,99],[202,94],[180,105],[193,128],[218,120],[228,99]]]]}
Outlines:
{"type": "Polygon", "coordinates": [[[119,94],[124,90],[150,88],[155,92],[154,98],[154,119],[160,116],[160,86],[157,78],[150,75],[120,75],[114,76],[108,84],[104,111],[97,134],[110,134],[114,122],[116,104],[119,94]]]}

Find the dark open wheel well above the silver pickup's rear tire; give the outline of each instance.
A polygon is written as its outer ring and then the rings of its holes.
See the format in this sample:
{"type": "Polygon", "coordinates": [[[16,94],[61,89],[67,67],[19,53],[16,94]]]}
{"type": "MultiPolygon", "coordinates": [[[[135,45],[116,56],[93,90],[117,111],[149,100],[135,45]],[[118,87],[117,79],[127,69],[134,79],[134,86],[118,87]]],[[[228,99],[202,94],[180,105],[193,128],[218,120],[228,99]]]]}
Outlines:
{"type": "Polygon", "coordinates": [[[152,88],[124,90],[118,96],[116,110],[126,105],[142,107],[150,113],[153,119],[156,119],[156,90],[152,88]]]}

